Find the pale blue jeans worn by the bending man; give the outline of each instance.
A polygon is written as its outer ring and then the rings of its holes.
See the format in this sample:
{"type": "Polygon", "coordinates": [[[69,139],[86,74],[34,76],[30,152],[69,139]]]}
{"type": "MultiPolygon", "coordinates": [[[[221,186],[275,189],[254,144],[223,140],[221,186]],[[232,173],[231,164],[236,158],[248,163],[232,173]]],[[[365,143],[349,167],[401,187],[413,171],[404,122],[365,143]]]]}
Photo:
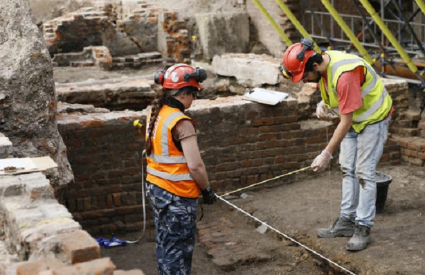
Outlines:
{"type": "Polygon", "coordinates": [[[376,171],[388,137],[390,118],[365,127],[360,133],[350,130],[341,142],[339,162],[343,171],[341,216],[372,227],[376,214],[376,171]]]}

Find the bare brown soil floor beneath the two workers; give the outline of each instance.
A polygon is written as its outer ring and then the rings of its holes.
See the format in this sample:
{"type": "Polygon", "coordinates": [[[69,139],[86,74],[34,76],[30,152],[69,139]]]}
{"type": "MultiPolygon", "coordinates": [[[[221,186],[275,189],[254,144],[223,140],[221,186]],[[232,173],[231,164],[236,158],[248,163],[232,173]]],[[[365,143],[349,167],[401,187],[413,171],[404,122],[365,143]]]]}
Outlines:
{"type": "MultiPolygon", "coordinates": [[[[223,201],[204,206],[192,274],[425,274],[425,171],[404,165],[379,170],[391,175],[392,183],[367,249],[353,253],[345,250],[347,238],[316,237],[316,229],[332,224],[339,213],[341,172],[306,171],[300,173],[307,177],[300,175],[291,183],[283,177],[270,181],[272,186],[245,190],[246,198],[236,194],[228,200],[280,233],[255,231],[260,222],[223,201]]],[[[118,237],[131,240],[137,234],[118,237]]],[[[119,269],[156,274],[154,231],[147,231],[138,244],[102,248],[102,255],[119,269]]]]}

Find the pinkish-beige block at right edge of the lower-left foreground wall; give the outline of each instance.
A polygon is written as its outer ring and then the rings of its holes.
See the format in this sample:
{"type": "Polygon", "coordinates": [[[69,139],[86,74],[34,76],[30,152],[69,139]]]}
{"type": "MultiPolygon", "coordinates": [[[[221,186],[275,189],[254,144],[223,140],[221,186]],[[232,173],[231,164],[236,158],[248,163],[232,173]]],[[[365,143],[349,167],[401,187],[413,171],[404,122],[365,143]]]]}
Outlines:
{"type": "Polygon", "coordinates": [[[87,231],[78,230],[58,234],[60,246],[71,264],[83,263],[100,258],[100,247],[87,231]]]}

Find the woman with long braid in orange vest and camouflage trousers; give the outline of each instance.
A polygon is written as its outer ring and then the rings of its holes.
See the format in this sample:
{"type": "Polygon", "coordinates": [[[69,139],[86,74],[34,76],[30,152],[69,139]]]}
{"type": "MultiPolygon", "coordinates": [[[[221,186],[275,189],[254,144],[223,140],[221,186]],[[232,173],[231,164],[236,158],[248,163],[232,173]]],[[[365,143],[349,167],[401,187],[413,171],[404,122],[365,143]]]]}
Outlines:
{"type": "Polygon", "coordinates": [[[156,94],[146,127],[147,196],[154,211],[158,273],[190,274],[195,248],[197,198],[213,204],[197,145],[195,122],[184,114],[192,105],[206,71],[175,64],[155,74],[163,87],[156,94]]]}

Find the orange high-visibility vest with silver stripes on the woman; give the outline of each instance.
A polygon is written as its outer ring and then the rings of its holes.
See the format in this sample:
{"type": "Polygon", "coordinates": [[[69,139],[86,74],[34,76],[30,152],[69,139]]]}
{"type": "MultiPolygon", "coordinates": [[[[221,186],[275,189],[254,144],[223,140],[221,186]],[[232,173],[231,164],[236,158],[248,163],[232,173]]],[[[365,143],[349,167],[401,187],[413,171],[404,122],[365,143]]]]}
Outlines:
{"type": "Polygon", "coordinates": [[[163,105],[159,111],[151,136],[152,152],[147,156],[146,180],[174,195],[195,198],[199,196],[199,186],[190,175],[186,157],[172,141],[171,130],[182,119],[192,121],[179,109],[168,105],[163,105]]]}

